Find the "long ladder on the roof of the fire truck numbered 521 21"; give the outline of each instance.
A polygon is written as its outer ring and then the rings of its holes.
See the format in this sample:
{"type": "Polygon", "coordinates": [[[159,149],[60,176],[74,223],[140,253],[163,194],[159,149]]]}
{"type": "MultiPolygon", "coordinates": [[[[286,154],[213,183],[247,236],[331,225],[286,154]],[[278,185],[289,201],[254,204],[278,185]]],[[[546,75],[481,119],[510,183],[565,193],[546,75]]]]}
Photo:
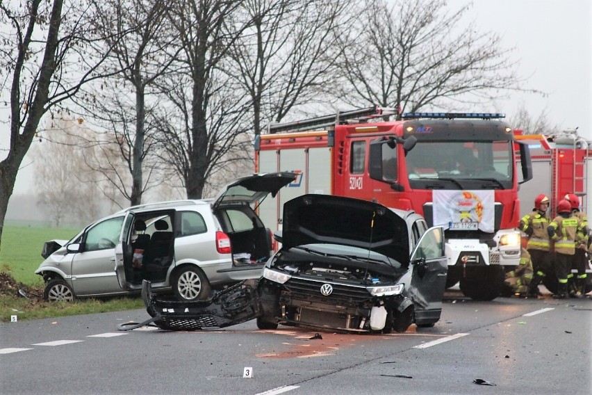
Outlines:
{"type": "Polygon", "coordinates": [[[396,114],[396,111],[393,108],[379,106],[344,112],[338,111],[334,115],[325,115],[308,120],[287,122],[283,124],[268,124],[268,134],[280,133],[283,131],[301,131],[334,127],[337,124],[363,123],[368,122],[368,120],[372,118],[383,118],[393,114],[396,114]]]}

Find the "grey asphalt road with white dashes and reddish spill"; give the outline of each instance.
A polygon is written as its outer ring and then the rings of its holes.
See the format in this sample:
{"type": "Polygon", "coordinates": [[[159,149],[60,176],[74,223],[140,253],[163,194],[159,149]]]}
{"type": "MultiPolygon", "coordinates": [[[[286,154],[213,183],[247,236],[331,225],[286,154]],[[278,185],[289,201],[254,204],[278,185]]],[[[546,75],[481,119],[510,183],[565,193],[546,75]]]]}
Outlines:
{"type": "Polygon", "coordinates": [[[254,321],[117,331],[147,318],[132,310],[0,325],[0,393],[592,393],[591,299],[475,302],[448,291],[434,328],[404,334],[311,339],[317,332],[254,321]]]}

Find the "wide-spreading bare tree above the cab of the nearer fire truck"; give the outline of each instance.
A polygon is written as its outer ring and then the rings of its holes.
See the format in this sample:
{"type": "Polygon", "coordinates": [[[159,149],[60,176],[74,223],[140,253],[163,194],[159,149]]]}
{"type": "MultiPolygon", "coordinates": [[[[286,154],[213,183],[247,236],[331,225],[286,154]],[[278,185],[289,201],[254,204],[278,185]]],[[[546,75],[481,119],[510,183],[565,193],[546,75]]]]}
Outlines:
{"type": "MultiPolygon", "coordinates": [[[[469,5],[470,6],[470,5],[469,5]]],[[[461,23],[469,6],[450,11],[445,0],[365,0],[360,23],[336,38],[343,89],[331,90],[352,106],[452,109],[520,90],[520,79],[500,37],[461,23]],[[466,26],[466,27],[461,27],[466,26]]]]}

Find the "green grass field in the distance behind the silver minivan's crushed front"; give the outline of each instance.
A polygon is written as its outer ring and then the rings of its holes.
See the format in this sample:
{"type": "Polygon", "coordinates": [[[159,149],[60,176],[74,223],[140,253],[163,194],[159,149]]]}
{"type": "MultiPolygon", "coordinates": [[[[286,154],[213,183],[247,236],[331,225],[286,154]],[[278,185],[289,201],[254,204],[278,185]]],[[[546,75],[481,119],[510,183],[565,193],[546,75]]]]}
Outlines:
{"type": "Polygon", "coordinates": [[[43,279],[35,270],[43,261],[43,243],[52,239],[69,240],[80,229],[51,229],[47,227],[24,227],[6,225],[0,245],[0,267],[10,272],[17,282],[42,285],[43,279]]]}

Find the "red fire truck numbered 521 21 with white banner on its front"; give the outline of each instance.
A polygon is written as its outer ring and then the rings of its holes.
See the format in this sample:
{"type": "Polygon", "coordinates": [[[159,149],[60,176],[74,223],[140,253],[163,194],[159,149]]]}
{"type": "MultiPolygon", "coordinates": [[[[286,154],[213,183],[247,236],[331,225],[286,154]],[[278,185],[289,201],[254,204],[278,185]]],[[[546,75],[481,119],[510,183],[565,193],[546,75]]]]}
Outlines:
{"type": "Polygon", "coordinates": [[[502,114],[386,120],[393,114],[370,107],[268,127],[255,140],[256,171],[299,177],[261,203],[261,218],[279,229],[283,202],[305,193],[414,210],[427,226],[445,226],[447,287],[460,282],[470,298],[496,298],[504,266],[520,259],[518,184],[532,178],[528,145],[514,139],[502,114]]]}

